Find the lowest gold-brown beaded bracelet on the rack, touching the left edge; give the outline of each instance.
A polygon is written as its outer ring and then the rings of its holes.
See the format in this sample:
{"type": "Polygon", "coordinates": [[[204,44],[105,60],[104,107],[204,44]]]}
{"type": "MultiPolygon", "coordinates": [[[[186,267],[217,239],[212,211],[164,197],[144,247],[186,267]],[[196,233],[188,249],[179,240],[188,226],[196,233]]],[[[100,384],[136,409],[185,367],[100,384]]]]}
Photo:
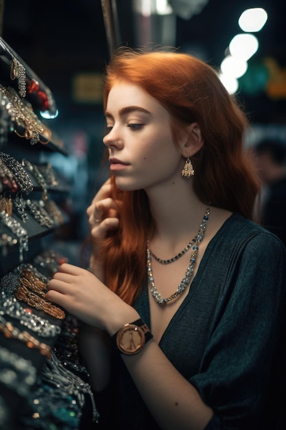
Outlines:
{"type": "Polygon", "coordinates": [[[38,341],[36,337],[29,334],[29,332],[19,330],[19,328],[14,327],[10,321],[6,321],[4,317],[0,315],[0,332],[3,333],[5,337],[9,339],[18,339],[19,341],[25,343],[27,348],[35,348],[40,354],[47,358],[51,357],[51,347],[46,343],[38,341]]]}

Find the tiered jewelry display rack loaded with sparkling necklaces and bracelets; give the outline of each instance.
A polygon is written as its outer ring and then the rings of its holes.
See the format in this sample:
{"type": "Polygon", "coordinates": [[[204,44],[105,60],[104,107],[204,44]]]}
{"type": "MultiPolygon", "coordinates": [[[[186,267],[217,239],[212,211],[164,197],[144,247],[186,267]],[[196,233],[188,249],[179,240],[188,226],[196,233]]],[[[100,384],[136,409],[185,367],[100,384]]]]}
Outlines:
{"type": "Polygon", "coordinates": [[[53,235],[69,184],[43,154],[66,156],[40,120],[49,88],[0,37],[0,429],[80,429],[97,410],[77,349],[78,321],[45,299],[64,256],[53,235]]]}

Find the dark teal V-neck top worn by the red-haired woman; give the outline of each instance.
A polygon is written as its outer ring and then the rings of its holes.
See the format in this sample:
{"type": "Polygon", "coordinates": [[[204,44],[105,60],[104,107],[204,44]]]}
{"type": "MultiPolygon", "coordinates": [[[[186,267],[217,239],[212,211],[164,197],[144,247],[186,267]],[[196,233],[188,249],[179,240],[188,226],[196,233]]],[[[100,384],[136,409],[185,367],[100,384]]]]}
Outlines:
{"type": "MultiPolygon", "coordinates": [[[[160,340],[169,361],[215,412],[206,430],[280,429],[279,411],[272,407],[285,387],[278,367],[285,269],[280,240],[233,214],[208,244],[190,291],[160,340]]],[[[134,307],[150,326],[147,288],[134,307]]],[[[110,399],[104,407],[108,418],[102,411],[106,428],[158,429],[117,351],[114,359],[114,403],[110,399]]]]}

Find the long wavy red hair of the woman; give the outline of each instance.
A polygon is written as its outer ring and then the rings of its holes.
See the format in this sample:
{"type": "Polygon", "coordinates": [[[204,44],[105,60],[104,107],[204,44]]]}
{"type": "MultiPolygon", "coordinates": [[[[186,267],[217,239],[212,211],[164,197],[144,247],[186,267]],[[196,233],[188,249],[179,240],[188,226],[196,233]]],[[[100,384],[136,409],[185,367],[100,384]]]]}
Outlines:
{"type": "MultiPolygon", "coordinates": [[[[204,145],[192,157],[195,194],[203,203],[252,219],[259,183],[243,148],[248,119],[215,69],[180,52],[121,48],[106,68],[104,110],[119,80],[139,85],[167,109],[175,143],[182,125],[198,123],[204,145]]],[[[106,284],[132,304],[146,281],[146,241],[154,220],[144,190],[122,191],[111,179],[112,197],[121,202],[120,223],[100,253],[106,284]]]]}

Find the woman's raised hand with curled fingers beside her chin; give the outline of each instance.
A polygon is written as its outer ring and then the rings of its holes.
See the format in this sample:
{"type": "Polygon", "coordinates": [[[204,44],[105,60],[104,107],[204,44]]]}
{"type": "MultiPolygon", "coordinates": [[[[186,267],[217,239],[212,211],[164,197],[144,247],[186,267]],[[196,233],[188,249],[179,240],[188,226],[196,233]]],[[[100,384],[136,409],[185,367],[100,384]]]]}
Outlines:
{"type": "Polygon", "coordinates": [[[118,205],[111,197],[110,179],[99,189],[91,205],[87,208],[86,215],[91,231],[90,270],[103,280],[102,262],[98,252],[106,233],[110,229],[117,229],[119,226],[118,205]]]}

